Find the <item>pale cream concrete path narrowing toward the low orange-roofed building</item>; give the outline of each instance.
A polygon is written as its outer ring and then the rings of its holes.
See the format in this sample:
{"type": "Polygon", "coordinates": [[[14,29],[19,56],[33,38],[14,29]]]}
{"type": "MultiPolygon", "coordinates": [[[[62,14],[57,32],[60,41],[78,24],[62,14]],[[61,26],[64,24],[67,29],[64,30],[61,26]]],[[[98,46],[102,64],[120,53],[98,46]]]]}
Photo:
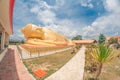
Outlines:
{"type": "Polygon", "coordinates": [[[82,47],[68,63],[45,80],[83,80],[84,65],[85,47],[82,47]]]}

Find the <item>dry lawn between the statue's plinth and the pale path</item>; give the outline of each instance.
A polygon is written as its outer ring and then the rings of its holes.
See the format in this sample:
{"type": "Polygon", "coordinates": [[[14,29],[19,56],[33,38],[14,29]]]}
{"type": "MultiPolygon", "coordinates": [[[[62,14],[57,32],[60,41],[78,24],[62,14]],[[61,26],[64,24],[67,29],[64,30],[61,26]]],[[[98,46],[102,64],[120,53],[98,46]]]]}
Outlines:
{"type": "Polygon", "coordinates": [[[33,74],[33,71],[37,69],[43,69],[47,72],[47,75],[43,78],[38,78],[35,76],[36,80],[44,80],[49,75],[56,72],[60,69],[65,63],[67,63],[75,54],[71,54],[71,50],[59,52],[56,54],[32,58],[32,59],[24,59],[23,63],[28,68],[28,71],[33,74]]]}

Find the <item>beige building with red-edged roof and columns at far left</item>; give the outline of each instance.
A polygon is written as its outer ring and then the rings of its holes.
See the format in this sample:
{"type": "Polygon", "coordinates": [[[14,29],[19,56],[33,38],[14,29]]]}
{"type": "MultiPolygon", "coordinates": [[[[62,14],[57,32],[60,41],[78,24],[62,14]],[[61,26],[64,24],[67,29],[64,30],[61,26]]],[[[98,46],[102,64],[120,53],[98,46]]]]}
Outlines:
{"type": "Polygon", "coordinates": [[[0,51],[9,44],[9,36],[13,34],[12,15],[14,0],[0,0],[0,51]]]}

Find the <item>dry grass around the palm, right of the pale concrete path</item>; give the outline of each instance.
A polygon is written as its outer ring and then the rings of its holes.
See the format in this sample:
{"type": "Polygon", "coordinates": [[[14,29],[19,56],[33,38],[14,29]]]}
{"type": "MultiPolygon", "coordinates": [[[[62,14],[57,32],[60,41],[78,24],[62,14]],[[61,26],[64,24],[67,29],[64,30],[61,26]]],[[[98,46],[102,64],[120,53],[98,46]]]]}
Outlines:
{"type": "MultiPolygon", "coordinates": [[[[120,50],[116,50],[116,54],[120,55],[120,50]]],[[[86,53],[84,80],[91,80],[96,74],[96,70],[91,71],[92,64],[97,64],[89,55],[89,51],[86,53]]],[[[99,80],[120,80],[120,57],[116,57],[109,63],[103,64],[102,72],[99,80]]]]}

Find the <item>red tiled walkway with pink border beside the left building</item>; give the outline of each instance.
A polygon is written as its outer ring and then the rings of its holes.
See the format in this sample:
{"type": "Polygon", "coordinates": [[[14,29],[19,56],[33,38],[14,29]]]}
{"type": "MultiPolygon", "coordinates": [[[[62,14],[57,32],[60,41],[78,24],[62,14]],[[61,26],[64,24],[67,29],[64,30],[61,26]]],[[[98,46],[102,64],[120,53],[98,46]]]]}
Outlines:
{"type": "Polygon", "coordinates": [[[16,46],[10,46],[0,62],[0,80],[34,80],[20,60],[16,46]]]}

